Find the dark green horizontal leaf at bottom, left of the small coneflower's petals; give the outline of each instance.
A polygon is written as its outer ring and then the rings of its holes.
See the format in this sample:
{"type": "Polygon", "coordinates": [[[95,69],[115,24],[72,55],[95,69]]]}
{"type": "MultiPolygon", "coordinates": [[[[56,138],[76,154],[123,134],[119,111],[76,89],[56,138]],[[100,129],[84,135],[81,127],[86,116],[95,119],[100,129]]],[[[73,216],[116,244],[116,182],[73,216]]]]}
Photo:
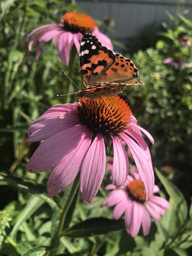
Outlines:
{"type": "Polygon", "coordinates": [[[86,237],[94,236],[96,234],[106,234],[123,228],[124,220],[91,218],[72,226],[68,230],[65,230],[64,235],[70,237],[86,237]]]}

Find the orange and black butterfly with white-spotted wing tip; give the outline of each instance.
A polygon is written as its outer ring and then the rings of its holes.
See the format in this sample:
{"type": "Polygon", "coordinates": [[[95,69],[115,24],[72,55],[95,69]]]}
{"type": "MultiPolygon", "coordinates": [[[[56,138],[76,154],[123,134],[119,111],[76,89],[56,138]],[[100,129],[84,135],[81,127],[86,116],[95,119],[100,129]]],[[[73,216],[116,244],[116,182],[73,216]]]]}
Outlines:
{"type": "Polygon", "coordinates": [[[103,46],[92,34],[85,34],[80,42],[80,74],[84,88],[75,92],[79,98],[96,100],[121,93],[127,86],[143,84],[134,63],[103,46]]]}

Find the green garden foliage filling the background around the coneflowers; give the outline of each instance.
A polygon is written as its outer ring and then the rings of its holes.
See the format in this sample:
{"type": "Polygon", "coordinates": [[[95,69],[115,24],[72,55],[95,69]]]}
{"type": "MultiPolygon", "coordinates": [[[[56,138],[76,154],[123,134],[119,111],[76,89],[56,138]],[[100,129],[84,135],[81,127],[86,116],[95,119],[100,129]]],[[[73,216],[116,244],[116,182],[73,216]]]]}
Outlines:
{"type": "MultiPolygon", "coordinates": [[[[63,13],[71,10],[79,8],[59,0],[5,0],[0,4],[0,207],[4,210],[0,212],[0,255],[48,255],[60,209],[73,186],[49,198],[49,172],[26,172],[26,162],[38,144],[25,144],[28,124],[53,104],[65,103],[66,99],[56,98],[56,94],[66,92],[68,80],[61,70],[68,73],[68,68],[62,66],[52,43],[45,44],[39,61],[34,62],[35,49],[29,52],[24,40],[34,28],[58,23],[63,13]]],[[[112,209],[102,207],[108,174],[90,205],[79,202],[80,194],[76,193],[55,255],[190,255],[192,48],[181,46],[179,39],[188,34],[192,40],[192,22],[184,16],[174,20],[174,28],[164,24],[165,39],[158,41],[156,48],[134,53],[132,59],[145,85],[128,88],[124,93],[139,124],[156,140],[152,158],[154,166],[168,176],[156,170],[159,185],[170,197],[171,210],[159,223],[152,223],[148,236],[143,237],[141,232],[131,238],[124,230],[124,221],[110,220],[112,209]],[[190,66],[174,70],[162,63],[171,56],[180,56],[190,66]]],[[[72,79],[79,85],[78,70],[77,62],[72,79]]],[[[71,102],[76,100],[70,98],[71,102]]]]}

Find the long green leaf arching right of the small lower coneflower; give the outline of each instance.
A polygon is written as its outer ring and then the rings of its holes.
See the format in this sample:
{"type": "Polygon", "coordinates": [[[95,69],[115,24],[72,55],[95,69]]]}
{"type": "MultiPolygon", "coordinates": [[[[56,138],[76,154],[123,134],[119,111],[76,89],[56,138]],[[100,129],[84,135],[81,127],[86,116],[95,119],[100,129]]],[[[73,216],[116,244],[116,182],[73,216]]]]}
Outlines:
{"type": "Polygon", "coordinates": [[[180,221],[184,221],[187,218],[188,208],[184,195],[178,189],[178,187],[173,184],[168,178],[166,178],[157,168],[154,168],[155,172],[163,184],[166,192],[172,198],[173,207],[177,210],[180,221]]]}

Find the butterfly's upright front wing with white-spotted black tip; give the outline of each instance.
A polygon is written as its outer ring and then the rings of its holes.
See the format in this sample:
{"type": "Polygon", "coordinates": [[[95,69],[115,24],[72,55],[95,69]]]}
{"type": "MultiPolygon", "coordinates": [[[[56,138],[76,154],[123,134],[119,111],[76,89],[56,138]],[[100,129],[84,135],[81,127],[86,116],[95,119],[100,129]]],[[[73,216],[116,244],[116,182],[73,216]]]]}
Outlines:
{"type": "Polygon", "coordinates": [[[85,34],[80,43],[80,73],[83,85],[95,84],[98,76],[101,79],[102,76],[107,76],[105,72],[115,60],[114,52],[104,47],[96,36],[85,34]]]}

